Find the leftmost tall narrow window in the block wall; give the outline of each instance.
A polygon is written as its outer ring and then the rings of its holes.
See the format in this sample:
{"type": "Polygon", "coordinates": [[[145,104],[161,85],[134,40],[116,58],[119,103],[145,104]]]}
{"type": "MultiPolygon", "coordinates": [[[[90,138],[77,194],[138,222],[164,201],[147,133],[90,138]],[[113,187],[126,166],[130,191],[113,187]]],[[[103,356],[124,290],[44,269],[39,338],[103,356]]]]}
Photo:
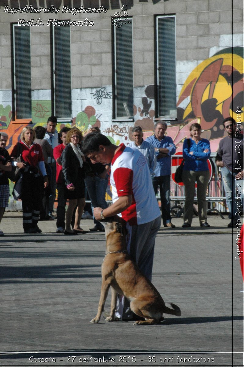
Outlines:
{"type": "Polygon", "coordinates": [[[14,120],[31,119],[30,27],[13,25],[14,120]]]}

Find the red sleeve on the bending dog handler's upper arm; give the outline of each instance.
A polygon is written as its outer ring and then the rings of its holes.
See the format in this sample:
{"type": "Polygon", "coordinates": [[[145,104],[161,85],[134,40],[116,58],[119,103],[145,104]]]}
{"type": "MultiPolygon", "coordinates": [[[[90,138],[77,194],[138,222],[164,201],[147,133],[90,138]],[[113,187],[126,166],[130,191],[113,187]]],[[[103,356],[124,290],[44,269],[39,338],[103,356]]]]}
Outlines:
{"type": "Polygon", "coordinates": [[[113,173],[118,196],[132,195],[133,171],[130,168],[117,168],[113,173]]]}

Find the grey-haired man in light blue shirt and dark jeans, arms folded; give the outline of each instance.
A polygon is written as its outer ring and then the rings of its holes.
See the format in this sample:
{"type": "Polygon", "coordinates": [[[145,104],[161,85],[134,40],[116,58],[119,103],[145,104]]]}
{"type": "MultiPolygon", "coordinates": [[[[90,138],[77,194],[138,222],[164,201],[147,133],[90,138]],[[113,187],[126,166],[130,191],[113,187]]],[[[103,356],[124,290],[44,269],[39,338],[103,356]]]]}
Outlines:
{"type": "Polygon", "coordinates": [[[164,227],[175,228],[171,223],[170,215],[170,174],[171,155],[175,153],[175,145],[171,137],[165,136],[167,124],[158,121],[154,127],[154,135],[146,138],[146,142],[154,146],[157,155],[157,165],[152,175],[152,183],[155,195],[158,187],[160,189],[161,211],[164,227]]]}

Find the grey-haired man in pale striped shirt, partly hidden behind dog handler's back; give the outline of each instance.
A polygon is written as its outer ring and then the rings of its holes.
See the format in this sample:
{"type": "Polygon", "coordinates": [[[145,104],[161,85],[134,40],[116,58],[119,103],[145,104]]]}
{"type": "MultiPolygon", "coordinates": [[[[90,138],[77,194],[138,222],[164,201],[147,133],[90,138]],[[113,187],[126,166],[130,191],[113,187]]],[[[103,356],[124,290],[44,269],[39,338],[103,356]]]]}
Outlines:
{"type": "Polygon", "coordinates": [[[155,174],[154,169],[157,164],[156,153],[153,146],[143,140],[143,131],[141,126],[134,126],[132,128],[132,138],[134,139],[134,142],[129,143],[127,146],[138,149],[143,154],[148,162],[150,174],[153,176],[155,174]]]}

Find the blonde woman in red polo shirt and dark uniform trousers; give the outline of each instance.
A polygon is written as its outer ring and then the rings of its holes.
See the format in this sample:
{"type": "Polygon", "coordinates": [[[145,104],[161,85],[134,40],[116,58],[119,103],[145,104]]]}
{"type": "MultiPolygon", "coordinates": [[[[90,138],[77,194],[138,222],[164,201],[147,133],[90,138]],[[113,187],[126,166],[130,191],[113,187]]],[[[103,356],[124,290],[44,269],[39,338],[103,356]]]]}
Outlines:
{"type": "Polygon", "coordinates": [[[23,128],[20,142],[11,153],[13,165],[20,168],[22,175],[22,211],[25,233],[41,233],[37,226],[41,210],[43,189],[48,186],[44,157],[41,146],[34,142],[36,137],[32,127],[23,128]],[[21,155],[21,162],[15,160],[21,155]]]}

